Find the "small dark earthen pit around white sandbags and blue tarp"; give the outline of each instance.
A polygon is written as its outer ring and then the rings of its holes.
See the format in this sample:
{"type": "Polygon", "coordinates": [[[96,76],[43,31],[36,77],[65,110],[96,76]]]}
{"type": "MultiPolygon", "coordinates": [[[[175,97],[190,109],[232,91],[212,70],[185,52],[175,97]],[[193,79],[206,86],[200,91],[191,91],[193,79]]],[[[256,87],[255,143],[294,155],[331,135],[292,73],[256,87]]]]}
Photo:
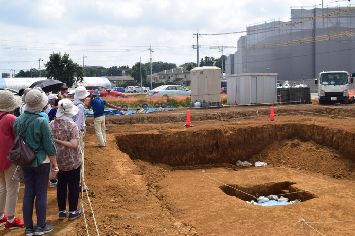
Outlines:
{"type": "Polygon", "coordinates": [[[288,198],[289,201],[299,199],[301,202],[316,198],[314,194],[292,186],[294,184],[296,183],[289,181],[263,183],[251,187],[243,187],[237,184],[228,184],[230,187],[222,185],[220,186],[220,189],[222,189],[225,194],[229,196],[236,196],[243,201],[256,201],[255,198],[257,198],[257,196],[269,195],[279,195],[278,197],[282,195],[285,198],[288,198]],[[250,195],[255,196],[255,198],[250,195]]]}

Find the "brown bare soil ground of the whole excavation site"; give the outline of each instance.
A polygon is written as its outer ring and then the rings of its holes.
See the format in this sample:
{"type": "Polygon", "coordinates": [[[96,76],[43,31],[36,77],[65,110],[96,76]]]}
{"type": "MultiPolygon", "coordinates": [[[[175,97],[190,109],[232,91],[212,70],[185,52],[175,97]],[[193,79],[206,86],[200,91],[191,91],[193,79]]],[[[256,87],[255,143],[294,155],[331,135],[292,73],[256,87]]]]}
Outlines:
{"type": "MultiPolygon", "coordinates": [[[[100,235],[321,235],[305,224],[302,232],[299,220],[355,220],[355,106],[312,102],[274,106],[277,121],[267,120],[269,106],[190,109],[193,127],[183,126],[187,109],[107,116],[105,149],[97,147],[89,118],[85,182],[94,212],[83,199],[89,234],[97,235],[93,213],[100,235]],[[235,166],[238,160],[268,166],[235,166]],[[250,205],[252,196],[226,184],[302,202],[250,205]]],[[[54,226],[48,235],[87,235],[84,217],[58,220],[55,188],[48,189],[47,221],[54,226]]],[[[355,221],[309,225],[324,235],[354,235],[355,221]]]]}

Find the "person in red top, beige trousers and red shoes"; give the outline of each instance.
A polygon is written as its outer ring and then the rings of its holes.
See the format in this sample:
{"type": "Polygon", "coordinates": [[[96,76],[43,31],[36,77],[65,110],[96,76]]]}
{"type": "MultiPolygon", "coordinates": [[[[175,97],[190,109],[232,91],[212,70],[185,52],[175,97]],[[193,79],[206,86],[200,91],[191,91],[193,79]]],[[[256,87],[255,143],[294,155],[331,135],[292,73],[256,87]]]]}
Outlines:
{"type": "Polygon", "coordinates": [[[17,117],[13,113],[20,105],[20,96],[0,90],[0,226],[5,225],[5,229],[24,227],[24,222],[15,217],[20,183],[13,181],[12,176],[17,166],[7,159],[16,137],[13,124],[17,117]]]}

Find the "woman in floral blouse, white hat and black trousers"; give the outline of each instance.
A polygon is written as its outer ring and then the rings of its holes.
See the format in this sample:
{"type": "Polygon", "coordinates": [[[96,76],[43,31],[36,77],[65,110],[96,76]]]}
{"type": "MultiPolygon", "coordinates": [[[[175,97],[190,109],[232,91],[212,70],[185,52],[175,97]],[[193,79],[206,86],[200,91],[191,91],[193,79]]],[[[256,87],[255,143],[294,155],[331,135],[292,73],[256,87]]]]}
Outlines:
{"type": "Polygon", "coordinates": [[[81,150],[78,145],[79,130],[72,119],[78,110],[72,101],[62,99],[58,103],[57,118],[49,124],[57,149],[59,219],[64,219],[69,214],[69,220],[74,220],[82,213],[82,210],[77,210],[81,169],[81,150]],[[66,210],[66,189],[68,186],[69,212],[66,210]]]}

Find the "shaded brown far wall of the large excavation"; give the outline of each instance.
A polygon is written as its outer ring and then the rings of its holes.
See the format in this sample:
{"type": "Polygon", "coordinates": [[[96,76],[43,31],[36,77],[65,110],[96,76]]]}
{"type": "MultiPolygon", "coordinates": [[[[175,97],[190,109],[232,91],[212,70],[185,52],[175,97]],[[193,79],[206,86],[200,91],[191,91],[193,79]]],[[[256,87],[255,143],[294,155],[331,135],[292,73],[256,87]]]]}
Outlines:
{"type": "Polygon", "coordinates": [[[171,166],[246,161],[275,140],[298,137],[338,150],[355,160],[355,132],[321,125],[272,124],[243,128],[163,130],[158,133],[122,133],[117,145],[131,159],[171,166]]]}

